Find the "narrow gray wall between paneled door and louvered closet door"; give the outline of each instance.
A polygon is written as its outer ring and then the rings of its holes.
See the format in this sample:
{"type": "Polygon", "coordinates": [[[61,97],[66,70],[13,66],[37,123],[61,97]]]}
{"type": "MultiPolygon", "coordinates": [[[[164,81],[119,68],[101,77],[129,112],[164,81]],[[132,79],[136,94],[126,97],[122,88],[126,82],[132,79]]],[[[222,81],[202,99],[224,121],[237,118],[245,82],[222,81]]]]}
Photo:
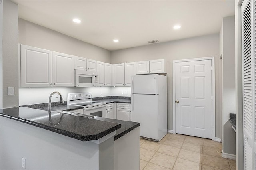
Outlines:
{"type": "Polygon", "coordinates": [[[236,136],[228,121],[229,113],[236,111],[235,87],[235,16],[223,18],[222,37],[222,145],[223,152],[236,154],[236,136]]]}

